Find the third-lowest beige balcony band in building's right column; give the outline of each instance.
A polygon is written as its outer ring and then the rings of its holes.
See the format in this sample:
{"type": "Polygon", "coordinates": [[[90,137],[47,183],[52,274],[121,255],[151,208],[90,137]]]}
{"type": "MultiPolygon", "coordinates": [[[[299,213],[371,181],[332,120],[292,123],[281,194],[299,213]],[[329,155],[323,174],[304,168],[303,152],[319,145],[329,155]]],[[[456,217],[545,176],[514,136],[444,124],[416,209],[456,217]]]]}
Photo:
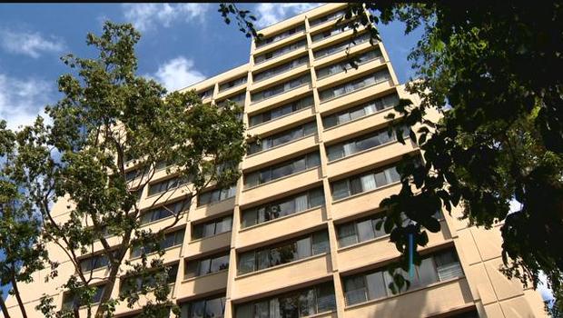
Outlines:
{"type": "Polygon", "coordinates": [[[378,189],[354,194],[332,203],[332,218],[339,220],[353,214],[377,209],[381,200],[400,192],[400,183],[388,184],[378,189]]]}

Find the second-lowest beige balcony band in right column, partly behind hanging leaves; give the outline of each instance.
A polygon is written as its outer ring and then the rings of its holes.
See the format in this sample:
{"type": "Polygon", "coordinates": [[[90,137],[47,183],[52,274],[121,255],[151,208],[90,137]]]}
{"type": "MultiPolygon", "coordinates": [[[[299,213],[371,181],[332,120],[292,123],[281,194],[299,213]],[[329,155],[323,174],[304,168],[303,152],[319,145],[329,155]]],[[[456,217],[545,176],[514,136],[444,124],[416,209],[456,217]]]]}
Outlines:
{"type": "MultiPolygon", "coordinates": [[[[424,249],[446,243],[451,239],[451,234],[449,233],[446,221],[441,220],[440,225],[441,229],[438,233],[431,233],[426,230],[429,243],[427,246],[423,247],[424,249]]],[[[399,255],[400,253],[397,251],[395,244],[389,242],[389,235],[380,236],[369,241],[339,248],[339,271],[347,272],[370,265],[376,261],[390,260],[392,258],[399,257],[399,255]]]]}

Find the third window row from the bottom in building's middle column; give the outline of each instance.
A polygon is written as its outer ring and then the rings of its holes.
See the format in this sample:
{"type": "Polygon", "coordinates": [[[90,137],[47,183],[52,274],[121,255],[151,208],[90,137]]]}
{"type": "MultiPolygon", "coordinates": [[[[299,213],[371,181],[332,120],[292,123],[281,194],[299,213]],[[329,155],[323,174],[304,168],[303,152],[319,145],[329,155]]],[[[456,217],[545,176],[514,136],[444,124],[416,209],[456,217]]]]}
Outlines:
{"type": "Polygon", "coordinates": [[[242,212],[242,228],[275,220],[279,217],[324,205],[322,188],[291,195],[242,212]]]}

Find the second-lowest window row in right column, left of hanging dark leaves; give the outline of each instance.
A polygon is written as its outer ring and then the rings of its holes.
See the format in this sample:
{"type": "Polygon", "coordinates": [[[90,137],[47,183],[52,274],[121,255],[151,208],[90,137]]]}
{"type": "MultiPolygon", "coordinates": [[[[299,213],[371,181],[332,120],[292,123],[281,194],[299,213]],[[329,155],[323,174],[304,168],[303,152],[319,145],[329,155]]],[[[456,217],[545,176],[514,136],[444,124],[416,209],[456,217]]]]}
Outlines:
{"type": "Polygon", "coordinates": [[[354,243],[361,243],[373,238],[386,235],[383,227],[377,230],[376,224],[383,219],[381,216],[371,216],[367,219],[352,221],[341,224],[337,227],[339,247],[349,246],[354,243]]]}

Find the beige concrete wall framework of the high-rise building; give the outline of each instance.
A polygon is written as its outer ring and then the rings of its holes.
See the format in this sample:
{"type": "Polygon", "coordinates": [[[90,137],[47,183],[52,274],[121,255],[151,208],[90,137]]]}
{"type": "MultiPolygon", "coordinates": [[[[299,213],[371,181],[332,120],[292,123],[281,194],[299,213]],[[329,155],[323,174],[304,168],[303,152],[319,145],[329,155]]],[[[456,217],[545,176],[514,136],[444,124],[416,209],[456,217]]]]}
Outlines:
{"type": "MultiPolygon", "coordinates": [[[[248,154],[243,159],[241,167],[244,174],[249,174],[313,151],[319,152],[320,165],[252,187],[245,188],[243,181],[239,180],[234,197],[213,204],[198,206],[197,198],[192,198],[189,210],[183,214],[182,222],[175,228],[184,231],[183,243],[167,249],[164,255],[165,263],[178,263],[179,265],[171,297],[178,303],[185,303],[221,295],[225,297],[226,302],[224,317],[234,317],[236,308],[242,303],[261,300],[286,292],[291,293],[291,291],[328,282],[334,289],[335,308],[333,311],[317,313],[314,315],[315,317],[545,316],[539,293],[522,289],[518,281],[509,280],[499,272],[499,265],[502,262],[498,227],[489,231],[468,227],[465,222],[460,222],[456,218],[456,214],[450,216],[447,213],[444,213],[444,218],[440,221],[440,233],[430,234],[429,244],[421,251],[422,253],[433,253],[453,248],[459,256],[462,274],[456,278],[414,288],[406,293],[347,305],[344,296],[344,279],[352,274],[367,273],[380,268],[398,257],[399,253],[396,251],[394,244],[389,242],[388,236],[339,247],[337,229],[342,224],[359,220],[367,215],[380,213],[380,201],[390,194],[397,193],[400,190],[400,183],[387,184],[375,190],[353,194],[338,200],[332,199],[331,183],[397,162],[402,155],[418,154],[420,150],[407,139],[406,144],[397,142],[381,144],[341,159],[328,160],[327,147],[355,136],[385,128],[389,124],[385,116],[393,110],[392,108],[383,109],[328,128],[325,128],[325,124],[323,124],[323,118],[326,116],[389,94],[398,94],[400,98],[410,98],[415,104],[419,103],[417,96],[407,94],[404,87],[400,85],[382,43],[376,44],[376,48],[381,53],[380,57],[360,65],[358,69],[317,78],[319,69],[325,65],[344,61],[346,52],[341,50],[319,58],[315,58],[314,53],[350,38],[351,30],[313,42],[312,38],[330,30],[335,20],[314,26],[311,26],[311,22],[344,7],[344,4],[321,5],[311,11],[263,29],[262,33],[267,37],[283,33],[294,26],[302,26],[301,31],[298,30],[293,35],[272,44],[262,45],[259,48],[252,44],[248,64],[238,66],[221,75],[213,76],[186,88],[186,90],[195,89],[202,93],[203,101],[211,103],[222,102],[227,98],[235,98],[244,94],[242,99],[244,104],[243,121],[247,126],[249,126],[249,118],[252,115],[275,109],[282,104],[311,94],[313,103],[310,107],[285,114],[263,124],[252,125],[248,128],[248,133],[264,139],[272,134],[287,131],[299,124],[312,121],[317,126],[314,134],[303,136],[256,154],[248,154]],[[256,56],[270,53],[301,40],[306,41],[306,45],[303,47],[272,57],[265,62],[255,63],[256,56]],[[253,81],[256,74],[265,70],[272,70],[272,68],[300,56],[306,56],[307,63],[262,81],[253,81]],[[349,83],[380,70],[388,70],[389,79],[321,101],[320,92],[327,88],[349,83]],[[310,75],[311,83],[301,84],[282,94],[275,94],[259,102],[252,102],[252,94],[302,75],[310,75]],[[237,78],[246,78],[246,83],[234,85],[230,88],[223,85],[237,78]],[[205,94],[205,92],[208,93],[205,94]],[[322,189],[324,202],[321,206],[285,215],[263,224],[242,228],[242,211],[313,188],[322,189]],[[194,225],[228,215],[232,215],[231,231],[201,239],[192,238],[194,225]],[[319,230],[328,232],[330,248],[326,253],[319,253],[253,273],[238,273],[237,261],[240,259],[241,253],[271,246],[319,230]],[[230,255],[228,270],[184,278],[183,273],[186,263],[220,252],[230,255]]],[[[351,47],[350,53],[365,53],[369,50],[373,50],[373,48],[365,42],[351,47]]],[[[430,117],[436,119],[438,114],[432,114],[430,117]]],[[[161,171],[155,175],[152,183],[165,178],[165,172],[161,171]]],[[[167,194],[165,199],[171,202],[182,198],[184,195],[181,191],[173,191],[171,194],[167,194]]],[[[154,197],[148,196],[148,190],[145,187],[141,201],[142,206],[149,206],[153,204],[153,201],[154,197]]],[[[66,204],[64,198],[56,203],[55,210],[61,211],[57,215],[60,220],[64,220],[64,206],[66,204]]],[[[170,222],[172,222],[170,219],[162,219],[145,226],[158,230],[170,224],[170,222]]],[[[96,249],[100,250],[101,247],[98,246],[96,249]]],[[[42,316],[40,313],[34,313],[34,308],[43,293],[53,295],[54,304],[60,308],[63,303],[63,291],[59,287],[67,279],[65,274],[74,273],[73,264],[67,261],[60,247],[52,243],[49,250],[51,257],[61,262],[59,276],[45,283],[44,278],[49,273],[49,270],[45,269],[35,273],[35,283],[21,288],[26,308],[28,308],[29,313],[32,313],[32,317],[42,316]]],[[[104,277],[105,271],[105,268],[98,269],[95,271],[95,275],[104,277]]],[[[119,283],[116,283],[113,294],[117,297],[118,293],[119,283]]],[[[19,311],[13,297],[8,298],[7,305],[13,313],[12,317],[18,318],[19,311]]],[[[134,313],[134,310],[128,309],[122,303],[117,307],[116,313],[119,316],[127,316],[129,313],[134,313]]]]}

